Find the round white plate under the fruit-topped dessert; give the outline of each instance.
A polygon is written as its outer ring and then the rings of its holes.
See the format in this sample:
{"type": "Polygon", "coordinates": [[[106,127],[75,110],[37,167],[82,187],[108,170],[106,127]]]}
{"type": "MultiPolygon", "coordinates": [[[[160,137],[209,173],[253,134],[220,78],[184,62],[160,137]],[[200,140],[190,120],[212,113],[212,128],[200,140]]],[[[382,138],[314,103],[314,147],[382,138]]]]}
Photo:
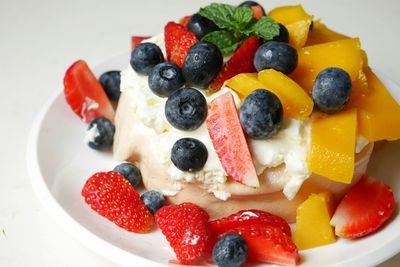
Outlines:
{"type": "MultiPolygon", "coordinates": [[[[124,54],[93,68],[96,75],[123,69],[124,54]]],[[[399,100],[400,87],[384,83],[399,100]]],[[[384,108],[384,107],[382,107],[384,108]]],[[[117,162],[111,153],[90,149],[83,143],[87,125],[67,106],[57,91],[38,114],[28,142],[27,163],[33,187],[44,206],[67,231],[90,249],[124,266],[165,266],[174,254],[159,230],[133,234],[118,228],[92,211],[80,195],[94,172],[111,170],[117,162]]],[[[400,126],[399,126],[400,127],[400,126]]],[[[389,184],[396,200],[400,192],[400,142],[386,143],[374,152],[368,172],[389,184]]],[[[339,239],[335,244],[301,251],[301,266],[372,266],[400,250],[400,216],[378,233],[356,241],[339,239]]]]}

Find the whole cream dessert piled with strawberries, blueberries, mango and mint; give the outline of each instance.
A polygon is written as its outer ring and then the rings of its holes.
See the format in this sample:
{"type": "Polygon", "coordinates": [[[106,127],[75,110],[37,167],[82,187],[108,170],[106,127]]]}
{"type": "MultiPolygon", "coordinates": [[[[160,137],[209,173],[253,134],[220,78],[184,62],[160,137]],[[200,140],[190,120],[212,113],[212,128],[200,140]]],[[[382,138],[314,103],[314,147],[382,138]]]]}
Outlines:
{"type": "Polygon", "coordinates": [[[400,138],[400,106],[358,38],[301,6],[266,15],[246,1],[200,8],[132,48],[121,73],[99,82],[78,61],[64,79],[85,142],[127,161],[83,187],[100,215],[134,233],[156,222],[179,263],[219,266],[296,265],[298,249],[391,217],[393,192],[365,172],[374,142],[400,138]]]}

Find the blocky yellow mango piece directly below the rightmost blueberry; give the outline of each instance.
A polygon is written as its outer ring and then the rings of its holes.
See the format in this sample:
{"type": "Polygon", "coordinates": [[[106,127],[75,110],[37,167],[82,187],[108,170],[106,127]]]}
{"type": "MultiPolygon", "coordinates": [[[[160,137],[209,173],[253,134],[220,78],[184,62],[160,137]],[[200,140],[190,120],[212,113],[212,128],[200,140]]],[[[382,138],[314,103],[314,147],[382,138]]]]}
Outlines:
{"type": "Polygon", "coordinates": [[[354,173],[357,111],[341,111],[312,121],[308,169],[336,182],[351,183],[354,173]]]}

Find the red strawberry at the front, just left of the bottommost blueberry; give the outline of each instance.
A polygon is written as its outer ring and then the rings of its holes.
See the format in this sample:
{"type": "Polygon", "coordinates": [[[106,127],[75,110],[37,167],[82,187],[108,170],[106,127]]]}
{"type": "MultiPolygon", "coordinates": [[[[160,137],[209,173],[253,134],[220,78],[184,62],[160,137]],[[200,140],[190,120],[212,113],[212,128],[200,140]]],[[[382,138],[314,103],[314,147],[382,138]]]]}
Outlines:
{"type": "Polygon", "coordinates": [[[195,264],[210,252],[209,216],[192,203],[164,206],[155,215],[156,222],[181,264],[195,264]]]}

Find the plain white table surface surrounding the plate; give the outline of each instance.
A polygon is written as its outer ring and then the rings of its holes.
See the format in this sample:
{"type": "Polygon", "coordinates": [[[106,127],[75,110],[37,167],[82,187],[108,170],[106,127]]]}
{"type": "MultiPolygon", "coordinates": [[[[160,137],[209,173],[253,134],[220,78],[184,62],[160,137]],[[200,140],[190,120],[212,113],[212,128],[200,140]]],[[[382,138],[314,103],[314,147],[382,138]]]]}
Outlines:
{"type": "MultiPolygon", "coordinates": [[[[73,61],[95,65],[128,51],[132,34],[155,34],[207,2],[0,0],[0,266],[116,266],[68,236],[38,202],[25,163],[33,118],[73,61]]],[[[298,2],[361,37],[370,66],[400,83],[399,1],[260,1],[267,10],[298,2]]],[[[400,255],[380,266],[400,266],[400,255]]]]}

